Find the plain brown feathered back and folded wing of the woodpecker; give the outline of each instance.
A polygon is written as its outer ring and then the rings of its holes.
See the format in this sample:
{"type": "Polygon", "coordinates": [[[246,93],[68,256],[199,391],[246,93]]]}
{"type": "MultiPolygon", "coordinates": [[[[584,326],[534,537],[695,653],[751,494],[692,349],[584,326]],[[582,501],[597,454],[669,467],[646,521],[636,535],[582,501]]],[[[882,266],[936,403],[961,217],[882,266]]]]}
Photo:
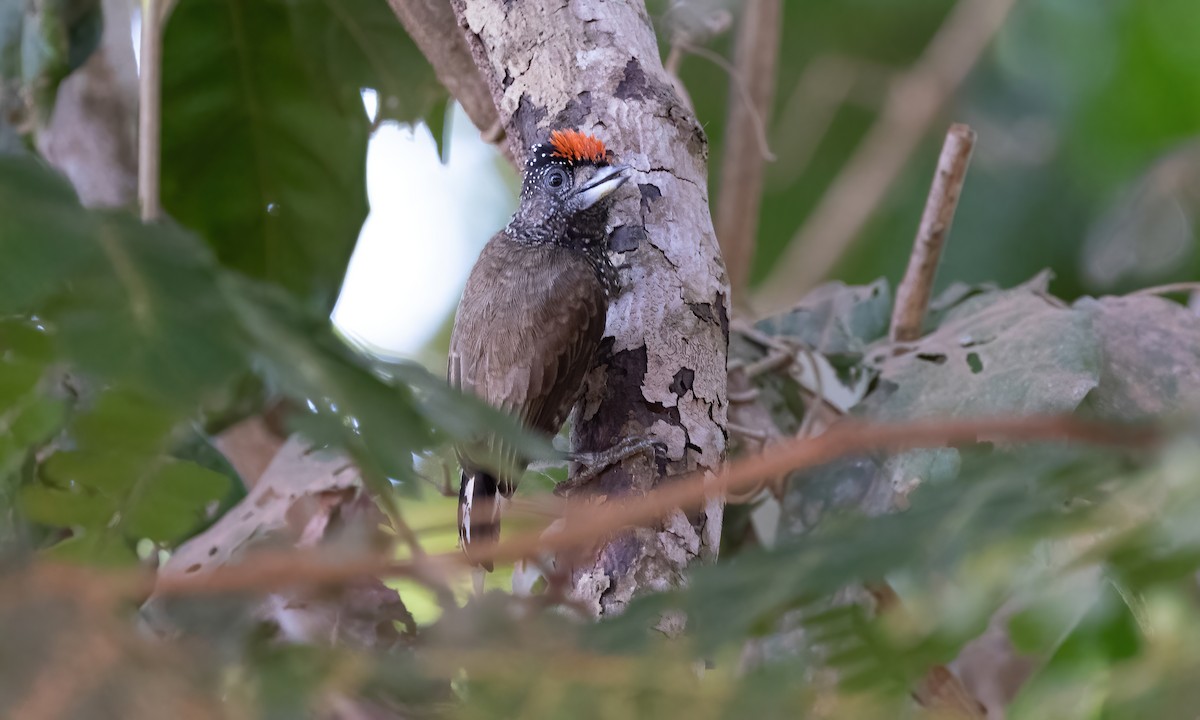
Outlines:
{"type": "MultiPolygon", "coordinates": [[[[604,337],[606,310],[604,286],[584,259],[554,246],[493,238],[458,305],[450,382],[527,427],[554,433],[604,337]]],[[[482,440],[499,457],[517,460],[494,438],[482,440]]],[[[472,455],[460,448],[461,460],[472,455]]]]}

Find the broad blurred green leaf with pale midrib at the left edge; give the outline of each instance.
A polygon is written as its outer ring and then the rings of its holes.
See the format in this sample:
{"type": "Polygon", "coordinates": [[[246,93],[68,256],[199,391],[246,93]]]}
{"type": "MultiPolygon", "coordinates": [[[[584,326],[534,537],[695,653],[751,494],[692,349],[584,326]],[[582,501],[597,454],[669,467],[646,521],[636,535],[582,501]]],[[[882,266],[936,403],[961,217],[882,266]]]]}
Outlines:
{"type": "Polygon", "coordinates": [[[0,157],[0,312],[37,312],[67,359],[191,407],[245,368],[216,268],[173,224],[84,210],[60,176],[0,157]]]}

